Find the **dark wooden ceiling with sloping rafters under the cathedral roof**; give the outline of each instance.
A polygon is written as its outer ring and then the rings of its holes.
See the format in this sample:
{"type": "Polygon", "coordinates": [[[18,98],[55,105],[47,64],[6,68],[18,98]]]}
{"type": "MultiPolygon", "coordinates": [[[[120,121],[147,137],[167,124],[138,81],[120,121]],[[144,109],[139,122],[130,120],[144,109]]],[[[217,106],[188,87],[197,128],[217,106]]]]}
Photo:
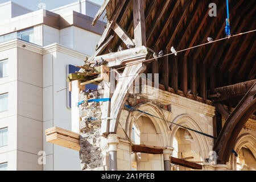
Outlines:
{"type": "MultiPolygon", "coordinates": [[[[133,1],[122,1],[126,2],[117,22],[133,38],[133,1]]],[[[106,7],[108,17],[112,16],[118,2],[112,0],[106,7]]],[[[229,0],[231,35],[256,29],[255,3],[256,1],[229,0]]],[[[155,52],[161,49],[166,53],[170,52],[171,46],[179,51],[207,43],[208,36],[214,40],[226,36],[224,0],[145,0],[144,16],[146,46],[155,52]],[[216,3],[216,17],[208,15],[209,3],[216,3]]],[[[111,35],[115,35],[113,30],[111,35]]],[[[159,73],[160,84],[175,90],[177,87],[185,95],[188,90],[192,90],[191,94],[195,97],[197,94],[205,100],[211,99],[208,96],[215,93],[215,88],[256,78],[255,36],[253,32],[207,44],[181,52],[176,57],[170,55],[167,61],[164,61],[163,57],[158,63],[148,63],[145,72],[159,73]],[[177,69],[174,69],[175,66],[177,69]],[[176,85],[173,77],[176,77],[176,85]],[[193,93],[195,90],[196,93],[193,93]]],[[[117,51],[119,45],[125,47],[122,40],[115,35],[102,54],[108,53],[110,47],[117,51]]]]}

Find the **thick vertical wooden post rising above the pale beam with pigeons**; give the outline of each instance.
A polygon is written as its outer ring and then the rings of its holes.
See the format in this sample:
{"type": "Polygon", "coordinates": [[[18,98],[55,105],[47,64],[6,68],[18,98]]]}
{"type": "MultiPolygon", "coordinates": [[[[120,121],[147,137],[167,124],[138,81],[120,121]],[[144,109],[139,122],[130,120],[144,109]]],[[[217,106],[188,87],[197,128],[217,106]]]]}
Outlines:
{"type": "Polygon", "coordinates": [[[135,45],[136,47],[146,46],[146,27],[143,0],[133,0],[133,17],[135,45]]]}

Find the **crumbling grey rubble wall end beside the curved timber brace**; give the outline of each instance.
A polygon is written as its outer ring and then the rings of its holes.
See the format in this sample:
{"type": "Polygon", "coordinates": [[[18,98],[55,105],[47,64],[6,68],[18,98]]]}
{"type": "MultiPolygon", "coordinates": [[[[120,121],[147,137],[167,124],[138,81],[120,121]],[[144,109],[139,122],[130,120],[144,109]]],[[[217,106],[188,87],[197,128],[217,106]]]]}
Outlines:
{"type": "Polygon", "coordinates": [[[98,98],[97,92],[79,94],[80,115],[80,162],[82,170],[106,170],[108,144],[101,137],[101,107],[98,102],[87,102],[98,98]]]}

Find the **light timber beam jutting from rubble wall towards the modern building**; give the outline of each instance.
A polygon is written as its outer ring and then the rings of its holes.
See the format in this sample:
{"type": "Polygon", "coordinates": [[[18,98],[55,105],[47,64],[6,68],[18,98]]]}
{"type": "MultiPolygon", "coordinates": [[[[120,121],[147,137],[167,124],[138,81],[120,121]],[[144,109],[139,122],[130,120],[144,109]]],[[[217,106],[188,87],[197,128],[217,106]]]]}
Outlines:
{"type": "Polygon", "coordinates": [[[47,135],[46,142],[57,144],[66,148],[71,148],[77,151],[80,150],[79,139],[69,138],[58,133],[47,135]]]}

